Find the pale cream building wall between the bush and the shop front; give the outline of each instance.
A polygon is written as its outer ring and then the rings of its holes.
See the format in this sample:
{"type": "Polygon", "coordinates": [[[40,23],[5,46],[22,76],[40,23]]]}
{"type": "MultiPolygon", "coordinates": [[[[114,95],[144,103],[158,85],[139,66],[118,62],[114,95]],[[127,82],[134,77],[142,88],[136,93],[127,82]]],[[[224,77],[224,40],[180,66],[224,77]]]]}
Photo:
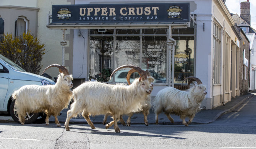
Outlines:
{"type": "MultiPolygon", "coordinates": [[[[62,30],[60,29],[48,29],[46,26],[48,24],[48,15],[52,12],[52,5],[69,5],[71,3],[66,2],[66,0],[38,0],[38,8],[40,8],[38,12],[38,32],[37,37],[41,41],[41,43],[45,43],[45,54],[43,55],[43,59],[41,62],[42,71],[52,64],[60,64],[62,65],[62,46],[60,42],[62,41],[62,30]]],[[[70,31],[66,30],[66,34],[69,34],[70,31]]],[[[69,46],[69,42],[66,46],[69,46]]],[[[68,54],[65,54],[65,60],[68,59],[68,54]]],[[[58,69],[52,68],[51,70],[47,70],[45,73],[54,77],[58,76],[58,69]]]]}

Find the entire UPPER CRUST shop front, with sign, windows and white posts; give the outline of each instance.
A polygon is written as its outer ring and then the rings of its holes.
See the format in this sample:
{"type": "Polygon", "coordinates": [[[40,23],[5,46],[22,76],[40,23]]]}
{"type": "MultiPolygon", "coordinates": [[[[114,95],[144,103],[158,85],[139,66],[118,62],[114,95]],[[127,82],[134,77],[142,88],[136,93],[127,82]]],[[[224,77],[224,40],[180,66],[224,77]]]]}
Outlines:
{"type": "MultiPolygon", "coordinates": [[[[110,75],[115,68],[132,64],[155,78],[154,97],[164,86],[194,76],[193,19],[190,3],[53,5],[47,27],[62,29],[64,34],[67,29],[77,32],[73,62],[83,65],[77,69],[86,70],[74,73],[73,63],[74,78],[126,83],[129,69],[110,75]]],[[[134,73],[131,81],[137,77],[134,73]]]]}

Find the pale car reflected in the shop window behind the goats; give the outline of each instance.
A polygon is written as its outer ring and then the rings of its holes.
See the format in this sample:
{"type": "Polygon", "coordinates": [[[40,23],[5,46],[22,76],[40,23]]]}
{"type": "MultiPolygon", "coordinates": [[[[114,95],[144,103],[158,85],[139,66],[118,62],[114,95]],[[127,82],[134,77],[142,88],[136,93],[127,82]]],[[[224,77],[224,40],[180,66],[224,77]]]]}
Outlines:
{"type": "MultiPolygon", "coordinates": [[[[126,76],[129,70],[119,70],[115,73],[115,82],[127,83],[126,76]]],[[[150,76],[155,79],[154,83],[166,83],[166,78],[159,75],[155,71],[149,71],[150,76]]],[[[130,77],[130,82],[132,83],[135,78],[139,78],[139,74],[137,72],[133,73],[130,77]]],[[[109,80],[109,82],[113,82],[113,77],[109,80]]]]}

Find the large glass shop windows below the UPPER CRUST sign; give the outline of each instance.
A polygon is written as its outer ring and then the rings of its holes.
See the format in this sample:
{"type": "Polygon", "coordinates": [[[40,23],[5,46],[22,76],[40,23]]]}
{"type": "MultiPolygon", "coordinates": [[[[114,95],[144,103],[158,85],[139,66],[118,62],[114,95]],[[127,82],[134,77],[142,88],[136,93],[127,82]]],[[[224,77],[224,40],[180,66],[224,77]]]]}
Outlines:
{"type": "MultiPolygon", "coordinates": [[[[173,32],[186,33],[184,29],[173,29],[173,32]]],[[[130,68],[117,71],[115,78],[109,77],[115,68],[133,64],[149,70],[155,83],[167,83],[167,29],[107,29],[104,32],[91,29],[90,36],[89,79],[127,83],[130,68]]],[[[176,34],[173,38],[177,41],[175,83],[181,83],[185,77],[194,76],[194,35],[176,34]]],[[[130,82],[138,77],[138,73],[133,73],[130,82]]]]}

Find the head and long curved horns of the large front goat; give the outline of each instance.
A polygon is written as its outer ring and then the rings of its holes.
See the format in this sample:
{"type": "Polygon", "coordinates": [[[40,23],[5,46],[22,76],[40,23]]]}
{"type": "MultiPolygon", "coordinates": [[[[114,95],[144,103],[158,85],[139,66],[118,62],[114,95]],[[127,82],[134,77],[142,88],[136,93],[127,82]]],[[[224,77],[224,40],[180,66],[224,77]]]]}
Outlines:
{"type": "Polygon", "coordinates": [[[154,82],[154,78],[150,77],[150,73],[149,73],[148,70],[144,71],[141,68],[139,68],[138,66],[134,66],[134,65],[123,65],[123,66],[120,66],[117,69],[115,69],[113,71],[113,73],[111,74],[110,78],[112,77],[112,75],[116,71],[118,71],[122,68],[132,68],[128,72],[127,77],[126,77],[127,82],[128,82],[129,85],[131,84],[130,83],[131,74],[137,71],[139,73],[140,78],[135,79],[132,84],[136,84],[136,86],[138,86],[139,91],[146,92],[146,94],[151,94],[152,89],[153,89],[153,83],[152,82],[154,82]]]}

